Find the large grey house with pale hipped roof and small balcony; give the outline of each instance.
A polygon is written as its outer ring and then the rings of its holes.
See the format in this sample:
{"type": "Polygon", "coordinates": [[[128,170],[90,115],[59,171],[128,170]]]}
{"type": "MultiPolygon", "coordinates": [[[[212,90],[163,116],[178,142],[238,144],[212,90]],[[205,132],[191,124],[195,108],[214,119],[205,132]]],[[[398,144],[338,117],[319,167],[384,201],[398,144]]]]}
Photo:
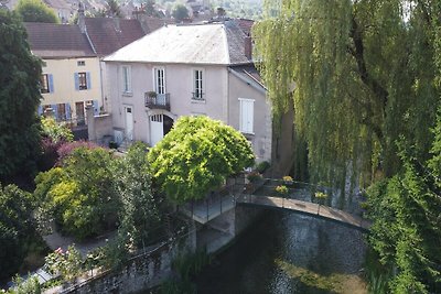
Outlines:
{"type": "Polygon", "coordinates": [[[241,131],[258,161],[276,154],[251,40],[235,21],[168,25],[105,62],[116,133],[154,145],[179,117],[208,116],[241,131]]]}

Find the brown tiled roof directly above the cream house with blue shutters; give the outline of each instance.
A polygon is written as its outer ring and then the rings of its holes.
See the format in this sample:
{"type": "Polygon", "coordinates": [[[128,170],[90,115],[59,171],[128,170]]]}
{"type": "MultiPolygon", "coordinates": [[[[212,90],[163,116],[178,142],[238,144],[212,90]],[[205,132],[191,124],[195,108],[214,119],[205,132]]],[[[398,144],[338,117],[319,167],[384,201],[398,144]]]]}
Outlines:
{"type": "Polygon", "coordinates": [[[96,56],[78,25],[24,23],[31,51],[40,57],[96,56]]]}

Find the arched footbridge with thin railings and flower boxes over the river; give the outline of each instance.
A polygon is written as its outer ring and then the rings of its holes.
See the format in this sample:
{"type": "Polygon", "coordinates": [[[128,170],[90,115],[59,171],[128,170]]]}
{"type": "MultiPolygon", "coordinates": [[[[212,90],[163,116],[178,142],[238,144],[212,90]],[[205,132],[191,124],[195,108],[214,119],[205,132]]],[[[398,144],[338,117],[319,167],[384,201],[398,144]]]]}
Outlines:
{"type": "Polygon", "coordinates": [[[203,200],[180,207],[180,210],[195,221],[206,224],[236,206],[257,206],[322,218],[361,231],[369,230],[372,224],[362,217],[359,207],[345,205],[345,209],[338,209],[337,202],[333,197],[326,199],[326,204],[319,204],[313,190],[325,189],[301,182],[286,184],[281,179],[273,178],[265,178],[252,184],[235,181],[203,200]],[[288,187],[288,193],[283,196],[276,190],[280,185],[288,187]]]}

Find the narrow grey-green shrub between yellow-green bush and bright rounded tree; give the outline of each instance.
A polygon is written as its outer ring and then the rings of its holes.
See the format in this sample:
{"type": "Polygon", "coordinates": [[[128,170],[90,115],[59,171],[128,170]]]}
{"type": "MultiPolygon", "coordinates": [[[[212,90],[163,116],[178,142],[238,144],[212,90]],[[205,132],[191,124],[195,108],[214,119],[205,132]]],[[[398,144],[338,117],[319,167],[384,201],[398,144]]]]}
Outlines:
{"type": "Polygon", "coordinates": [[[137,246],[148,240],[161,221],[161,199],[155,199],[151,190],[147,148],[142,142],[131,145],[127,155],[116,164],[115,172],[115,187],[121,202],[120,229],[137,246]]]}

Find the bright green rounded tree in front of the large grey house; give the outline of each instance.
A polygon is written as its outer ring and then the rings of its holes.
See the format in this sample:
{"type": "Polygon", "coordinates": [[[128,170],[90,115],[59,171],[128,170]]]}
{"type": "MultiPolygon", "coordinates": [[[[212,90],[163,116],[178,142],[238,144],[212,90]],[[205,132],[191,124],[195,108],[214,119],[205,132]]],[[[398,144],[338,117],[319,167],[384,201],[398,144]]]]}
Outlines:
{"type": "Polygon", "coordinates": [[[245,137],[207,117],[182,117],[148,154],[161,190],[175,203],[201,199],[254,164],[245,137]]]}

